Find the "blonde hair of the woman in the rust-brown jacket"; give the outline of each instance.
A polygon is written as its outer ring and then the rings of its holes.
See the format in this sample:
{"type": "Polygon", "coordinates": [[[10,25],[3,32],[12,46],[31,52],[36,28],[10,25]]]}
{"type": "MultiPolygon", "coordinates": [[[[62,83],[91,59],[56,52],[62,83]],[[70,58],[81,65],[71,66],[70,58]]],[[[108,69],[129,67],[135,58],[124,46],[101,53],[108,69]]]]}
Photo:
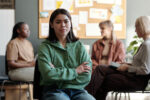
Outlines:
{"type": "Polygon", "coordinates": [[[102,25],[106,25],[107,27],[112,28],[111,31],[111,40],[113,41],[113,43],[116,43],[117,37],[114,33],[114,25],[110,20],[105,20],[99,23],[99,27],[101,27],[102,25]]]}

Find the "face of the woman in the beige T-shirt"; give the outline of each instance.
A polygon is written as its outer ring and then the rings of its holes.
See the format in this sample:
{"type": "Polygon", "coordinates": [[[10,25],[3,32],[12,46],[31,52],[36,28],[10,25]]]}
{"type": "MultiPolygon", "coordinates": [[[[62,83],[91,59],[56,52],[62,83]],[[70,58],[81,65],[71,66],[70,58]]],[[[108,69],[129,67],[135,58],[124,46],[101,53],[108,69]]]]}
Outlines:
{"type": "Polygon", "coordinates": [[[23,38],[27,38],[30,36],[30,29],[27,24],[22,24],[20,29],[18,29],[17,31],[19,33],[19,36],[21,36],[23,38]]]}

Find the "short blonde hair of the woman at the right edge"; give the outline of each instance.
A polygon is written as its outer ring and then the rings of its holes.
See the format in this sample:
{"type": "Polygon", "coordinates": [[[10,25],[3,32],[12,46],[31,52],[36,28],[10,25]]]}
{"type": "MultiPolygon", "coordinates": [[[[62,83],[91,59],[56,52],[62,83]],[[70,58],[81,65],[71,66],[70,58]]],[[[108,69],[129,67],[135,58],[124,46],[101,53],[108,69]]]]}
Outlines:
{"type": "Polygon", "coordinates": [[[150,34],[150,16],[141,16],[136,19],[135,26],[141,30],[141,34],[150,34]]]}

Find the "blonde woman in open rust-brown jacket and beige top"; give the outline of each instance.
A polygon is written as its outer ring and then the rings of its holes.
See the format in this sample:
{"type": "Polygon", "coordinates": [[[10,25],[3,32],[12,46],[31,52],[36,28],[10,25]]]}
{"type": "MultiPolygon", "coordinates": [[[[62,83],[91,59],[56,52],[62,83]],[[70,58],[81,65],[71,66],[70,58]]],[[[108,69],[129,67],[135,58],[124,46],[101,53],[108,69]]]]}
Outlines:
{"type": "Polygon", "coordinates": [[[99,23],[102,39],[97,40],[92,48],[93,71],[98,65],[109,65],[112,61],[121,63],[125,59],[123,43],[114,33],[113,23],[106,20],[99,23]]]}

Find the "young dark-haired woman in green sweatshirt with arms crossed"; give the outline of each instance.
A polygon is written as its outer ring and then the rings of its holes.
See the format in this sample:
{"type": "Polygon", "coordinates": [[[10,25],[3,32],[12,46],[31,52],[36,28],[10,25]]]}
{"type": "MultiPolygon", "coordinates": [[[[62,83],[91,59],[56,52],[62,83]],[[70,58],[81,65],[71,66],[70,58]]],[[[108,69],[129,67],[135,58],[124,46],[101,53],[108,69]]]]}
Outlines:
{"type": "Polygon", "coordinates": [[[71,16],[56,9],[49,21],[49,37],[38,51],[42,100],[95,100],[84,90],[91,78],[91,59],[74,36],[71,16]]]}

